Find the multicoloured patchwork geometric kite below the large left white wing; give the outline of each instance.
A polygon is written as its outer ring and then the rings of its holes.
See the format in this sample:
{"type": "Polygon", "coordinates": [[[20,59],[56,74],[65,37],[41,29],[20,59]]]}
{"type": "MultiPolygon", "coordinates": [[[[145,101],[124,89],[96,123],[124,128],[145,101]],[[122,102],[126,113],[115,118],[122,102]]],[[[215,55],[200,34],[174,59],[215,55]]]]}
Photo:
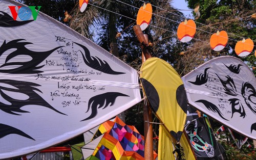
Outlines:
{"type": "MultiPolygon", "coordinates": [[[[100,125],[102,135],[82,147],[83,157],[90,159],[144,159],[144,137],[118,117],[100,125]]],[[[157,154],[154,152],[154,159],[157,154]]]]}

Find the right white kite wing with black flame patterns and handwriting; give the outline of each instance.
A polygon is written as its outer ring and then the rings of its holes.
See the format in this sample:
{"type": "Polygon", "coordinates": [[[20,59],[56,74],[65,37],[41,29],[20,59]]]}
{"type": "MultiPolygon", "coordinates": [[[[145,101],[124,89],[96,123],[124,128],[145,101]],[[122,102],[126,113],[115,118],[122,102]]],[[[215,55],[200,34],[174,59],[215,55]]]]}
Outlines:
{"type": "Polygon", "coordinates": [[[240,134],[256,139],[256,78],[243,61],[218,57],[182,80],[189,104],[240,134]]]}

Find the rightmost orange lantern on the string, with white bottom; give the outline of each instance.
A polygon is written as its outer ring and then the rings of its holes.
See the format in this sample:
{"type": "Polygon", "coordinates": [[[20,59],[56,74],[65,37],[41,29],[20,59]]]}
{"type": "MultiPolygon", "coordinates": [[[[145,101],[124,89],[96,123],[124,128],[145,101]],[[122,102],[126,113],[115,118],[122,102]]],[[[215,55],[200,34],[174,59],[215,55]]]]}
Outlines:
{"type": "Polygon", "coordinates": [[[252,49],[253,49],[253,41],[248,39],[243,39],[242,41],[237,42],[236,46],[234,47],[234,51],[236,51],[236,54],[240,57],[248,56],[252,49]]]}

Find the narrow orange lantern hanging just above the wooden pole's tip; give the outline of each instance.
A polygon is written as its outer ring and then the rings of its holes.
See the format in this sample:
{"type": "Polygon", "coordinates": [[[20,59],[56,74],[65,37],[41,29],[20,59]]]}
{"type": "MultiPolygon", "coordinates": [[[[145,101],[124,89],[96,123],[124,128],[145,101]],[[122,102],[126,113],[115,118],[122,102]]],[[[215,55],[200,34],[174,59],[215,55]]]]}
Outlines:
{"type": "Polygon", "coordinates": [[[142,31],[144,31],[147,26],[150,24],[152,17],[152,6],[150,3],[144,3],[140,7],[137,15],[137,24],[140,25],[142,31]]]}

